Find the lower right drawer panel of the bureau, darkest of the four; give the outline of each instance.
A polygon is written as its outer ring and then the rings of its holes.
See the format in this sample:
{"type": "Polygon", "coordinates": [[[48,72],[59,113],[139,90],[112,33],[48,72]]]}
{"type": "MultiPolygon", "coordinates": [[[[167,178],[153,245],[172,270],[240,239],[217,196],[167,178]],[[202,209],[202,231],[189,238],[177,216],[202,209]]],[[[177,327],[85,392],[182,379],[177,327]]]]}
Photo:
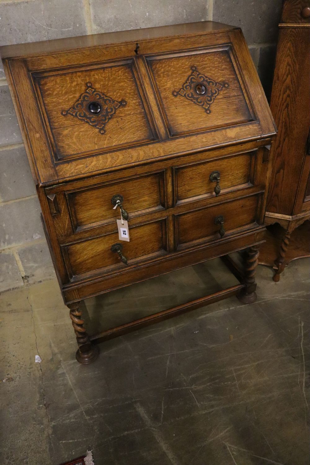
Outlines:
{"type": "Polygon", "coordinates": [[[260,199],[260,194],[251,195],[176,216],[178,248],[195,242],[219,239],[221,226],[215,224],[215,219],[219,216],[224,217],[224,237],[236,229],[255,224],[260,213],[260,199]]]}

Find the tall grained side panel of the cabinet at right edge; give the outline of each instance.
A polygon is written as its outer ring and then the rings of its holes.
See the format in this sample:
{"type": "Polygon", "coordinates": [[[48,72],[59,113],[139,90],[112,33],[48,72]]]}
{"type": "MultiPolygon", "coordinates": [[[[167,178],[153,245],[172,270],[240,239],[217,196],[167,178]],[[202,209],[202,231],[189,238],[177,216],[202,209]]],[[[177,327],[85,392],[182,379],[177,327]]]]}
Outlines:
{"type": "Polygon", "coordinates": [[[306,185],[299,188],[299,180],[310,127],[309,48],[310,35],[306,30],[280,30],[270,103],[278,126],[267,203],[267,211],[271,213],[300,213],[297,197],[301,196],[302,202],[305,196],[306,185]]]}

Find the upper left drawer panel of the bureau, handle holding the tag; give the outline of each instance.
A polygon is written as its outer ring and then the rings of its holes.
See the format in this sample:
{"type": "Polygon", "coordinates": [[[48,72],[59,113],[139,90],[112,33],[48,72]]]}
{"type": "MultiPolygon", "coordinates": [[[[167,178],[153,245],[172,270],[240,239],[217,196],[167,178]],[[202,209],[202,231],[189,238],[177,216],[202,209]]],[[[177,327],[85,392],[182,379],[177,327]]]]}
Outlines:
{"type": "Polygon", "coordinates": [[[165,208],[164,171],[145,176],[120,179],[92,188],[67,192],[73,231],[111,223],[120,217],[113,210],[113,195],[121,194],[129,218],[165,208]]]}

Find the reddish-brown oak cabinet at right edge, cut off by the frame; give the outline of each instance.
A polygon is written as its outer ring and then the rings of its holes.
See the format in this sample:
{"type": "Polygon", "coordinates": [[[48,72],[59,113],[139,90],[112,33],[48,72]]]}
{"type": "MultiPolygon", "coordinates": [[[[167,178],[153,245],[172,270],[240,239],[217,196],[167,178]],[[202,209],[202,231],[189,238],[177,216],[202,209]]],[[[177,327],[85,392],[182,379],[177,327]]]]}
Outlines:
{"type": "Polygon", "coordinates": [[[300,226],[310,219],[309,50],[310,0],[284,0],[270,102],[278,134],[265,215],[266,225],[283,229],[270,226],[260,259],[275,268],[276,282],[289,261],[310,256],[309,223],[300,226]]]}

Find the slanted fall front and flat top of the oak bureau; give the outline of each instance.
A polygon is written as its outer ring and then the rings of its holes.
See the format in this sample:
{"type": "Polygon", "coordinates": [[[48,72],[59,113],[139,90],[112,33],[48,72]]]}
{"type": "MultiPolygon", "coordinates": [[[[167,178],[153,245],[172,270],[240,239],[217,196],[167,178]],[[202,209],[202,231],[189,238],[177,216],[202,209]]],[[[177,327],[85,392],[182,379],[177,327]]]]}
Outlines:
{"type": "Polygon", "coordinates": [[[210,21],[0,47],[39,184],[268,139],[239,28],[210,21]]]}

